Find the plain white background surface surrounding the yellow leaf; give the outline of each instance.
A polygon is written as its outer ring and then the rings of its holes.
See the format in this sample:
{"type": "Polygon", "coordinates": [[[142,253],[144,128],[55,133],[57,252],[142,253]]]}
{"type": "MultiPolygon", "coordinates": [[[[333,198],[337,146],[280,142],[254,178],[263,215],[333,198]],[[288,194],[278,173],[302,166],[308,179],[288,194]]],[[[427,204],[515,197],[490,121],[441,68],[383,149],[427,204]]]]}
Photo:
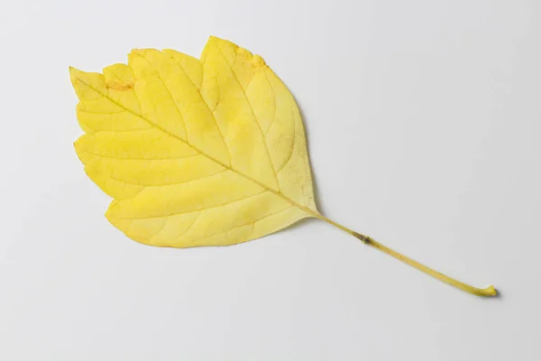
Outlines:
{"type": "Polygon", "coordinates": [[[539,1],[0,2],[0,359],[539,360],[539,1]],[[73,150],[68,67],[261,54],[302,108],[321,210],[223,248],[136,244],[73,150]]]}

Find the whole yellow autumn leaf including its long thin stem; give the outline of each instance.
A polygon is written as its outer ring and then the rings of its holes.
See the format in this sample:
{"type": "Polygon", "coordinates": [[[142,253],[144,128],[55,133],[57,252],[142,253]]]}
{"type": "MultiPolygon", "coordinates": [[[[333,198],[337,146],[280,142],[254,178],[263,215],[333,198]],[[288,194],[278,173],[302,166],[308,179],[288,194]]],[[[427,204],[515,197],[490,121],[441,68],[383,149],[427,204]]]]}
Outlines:
{"type": "Polygon", "coordinates": [[[436,273],[317,211],[298,106],[260,56],[211,37],[199,60],[133,50],[127,64],[103,73],[70,68],[70,76],[86,132],[78,157],[114,199],[105,217],[133,240],[234,245],[319,218],[436,273]]]}

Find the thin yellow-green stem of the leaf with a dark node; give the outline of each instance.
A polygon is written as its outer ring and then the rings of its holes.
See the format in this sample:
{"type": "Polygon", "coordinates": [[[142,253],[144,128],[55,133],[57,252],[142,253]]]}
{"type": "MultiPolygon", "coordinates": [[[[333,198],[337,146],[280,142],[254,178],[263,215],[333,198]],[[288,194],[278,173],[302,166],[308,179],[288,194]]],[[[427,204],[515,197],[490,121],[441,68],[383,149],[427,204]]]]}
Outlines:
{"type": "Polygon", "coordinates": [[[406,255],[399,254],[399,252],[389,248],[386,245],[381,245],[381,243],[376,242],[370,236],[364,236],[364,235],[362,235],[360,233],[357,233],[357,232],[349,229],[348,227],[344,227],[344,226],[336,223],[335,221],[333,221],[333,220],[331,220],[329,218],[326,218],[326,217],[324,217],[324,216],[322,216],[320,214],[314,213],[314,216],[316,218],[319,218],[319,219],[325,221],[326,223],[328,223],[328,224],[330,224],[332,226],[340,228],[344,232],[347,232],[350,235],[360,239],[362,241],[362,243],[364,243],[365,245],[371,245],[372,247],[376,248],[377,250],[379,250],[379,251],[381,251],[381,252],[383,252],[383,253],[385,253],[387,255],[390,255],[391,257],[394,257],[394,258],[402,261],[403,263],[409,264],[413,268],[416,268],[417,270],[419,270],[419,271],[421,271],[423,273],[431,275],[432,277],[436,278],[437,280],[448,283],[448,284],[450,284],[450,285],[452,285],[452,286],[454,286],[456,288],[459,288],[459,289],[461,289],[461,290],[463,290],[465,292],[469,292],[469,293],[472,293],[472,294],[474,294],[476,296],[482,296],[482,297],[496,296],[498,294],[498,292],[496,291],[494,286],[489,286],[487,288],[481,289],[481,288],[473,287],[473,286],[471,286],[469,284],[457,281],[454,278],[446,276],[444,273],[439,273],[439,272],[433,270],[432,268],[426,267],[426,265],[424,265],[424,264],[419,264],[417,261],[409,258],[406,255]]]}

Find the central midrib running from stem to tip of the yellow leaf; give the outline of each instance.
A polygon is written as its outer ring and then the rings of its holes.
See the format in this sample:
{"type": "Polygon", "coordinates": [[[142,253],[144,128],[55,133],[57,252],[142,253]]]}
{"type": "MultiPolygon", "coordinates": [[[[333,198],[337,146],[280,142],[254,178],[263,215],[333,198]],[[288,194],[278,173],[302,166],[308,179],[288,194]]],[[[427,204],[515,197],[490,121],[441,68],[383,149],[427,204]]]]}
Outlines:
{"type": "Polygon", "coordinates": [[[249,175],[247,174],[244,174],[242,171],[237,171],[235,170],[232,166],[229,166],[229,165],[226,165],[225,163],[223,162],[220,162],[218,161],[217,159],[215,159],[215,157],[213,157],[212,155],[208,155],[206,154],[205,152],[203,152],[202,150],[200,150],[199,148],[197,148],[197,146],[191,144],[191,143],[188,143],[188,141],[186,141],[185,139],[182,139],[180,138],[178,135],[176,134],[172,134],[170,133],[167,129],[163,128],[162,126],[152,122],[150,119],[147,119],[146,117],[142,116],[141,114],[138,114],[136,112],[134,112],[132,109],[129,109],[125,106],[123,106],[122,104],[120,104],[119,102],[115,101],[115,99],[109,97],[107,94],[104,94],[103,92],[101,92],[99,89],[93,87],[91,84],[88,84],[85,80],[83,79],[80,79],[78,78],[77,76],[75,77],[76,79],[78,79],[78,81],[80,81],[81,83],[85,84],[88,88],[91,88],[92,90],[96,91],[97,94],[101,95],[102,97],[105,97],[107,100],[109,100],[111,103],[115,104],[115,106],[119,106],[121,108],[123,108],[126,112],[128,113],[131,113],[133,114],[133,116],[138,116],[139,118],[142,119],[142,121],[144,121],[145,123],[147,123],[148,125],[151,125],[152,127],[155,127],[156,129],[160,130],[161,132],[163,132],[164,134],[167,134],[177,140],[179,140],[180,142],[182,143],[185,143],[186,145],[188,145],[189,147],[191,147],[193,150],[195,150],[197,153],[205,156],[206,158],[208,158],[209,160],[221,165],[222,167],[224,167],[225,169],[229,170],[229,171],[234,171],[236,174],[242,176],[243,178],[245,178],[246,180],[250,180],[252,181],[253,183],[259,185],[262,189],[264,190],[268,190],[270,191],[271,193],[275,194],[276,196],[280,197],[281,199],[285,199],[287,200],[291,205],[293,205],[294,207],[297,207],[303,211],[305,211],[307,214],[309,214],[311,217],[315,217],[315,218],[319,218],[319,219],[322,219],[322,220],[325,220],[328,222],[328,218],[320,215],[319,213],[317,213],[316,211],[310,209],[310,208],[307,208],[305,206],[302,206],[300,204],[298,204],[298,202],[296,202],[295,200],[293,199],[290,199],[288,196],[286,196],[285,194],[283,194],[282,192],[280,191],[277,191],[277,190],[273,190],[271,189],[270,187],[266,186],[265,184],[261,183],[261,181],[259,180],[255,180],[253,179],[252,177],[250,177],[249,175]]]}

